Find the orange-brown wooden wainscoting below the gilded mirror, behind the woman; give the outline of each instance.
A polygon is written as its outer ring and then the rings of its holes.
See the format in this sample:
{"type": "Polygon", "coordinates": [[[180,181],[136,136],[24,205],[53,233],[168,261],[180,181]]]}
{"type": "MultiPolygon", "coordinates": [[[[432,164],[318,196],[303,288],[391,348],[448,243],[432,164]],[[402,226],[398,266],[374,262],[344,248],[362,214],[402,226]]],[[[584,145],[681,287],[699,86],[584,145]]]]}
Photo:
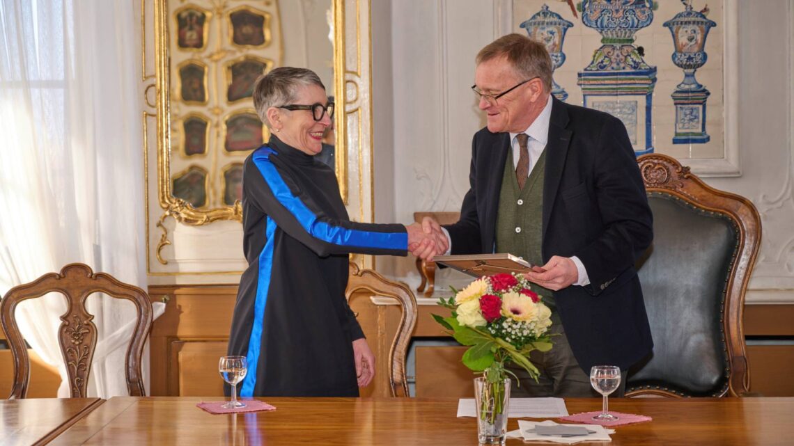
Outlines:
{"type": "MultiPolygon", "coordinates": [[[[149,343],[152,396],[222,395],[218,358],[229,342],[237,286],[150,286],[149,295],[152,301],[166,302],[149,343]]],[[[368,294],[357,293],[350,307],[377,361],[375,382],[361,396],[390,396],[388,356],[399,306],[376,306],[368,294]]]]}

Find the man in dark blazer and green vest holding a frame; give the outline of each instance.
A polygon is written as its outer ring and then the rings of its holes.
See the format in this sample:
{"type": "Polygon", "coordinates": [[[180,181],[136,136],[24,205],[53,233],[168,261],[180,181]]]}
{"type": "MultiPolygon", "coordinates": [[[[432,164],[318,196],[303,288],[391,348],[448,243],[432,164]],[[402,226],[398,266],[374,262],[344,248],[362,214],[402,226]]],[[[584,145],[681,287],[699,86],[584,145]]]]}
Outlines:
{"type": "Polygon", "coordinates": [[[452,254],[511,252],[542,265],[526,277],[559,336],[530,356],[540,382],[523,373],[512,394],[596,396],[594,365],[621,368],[621,393],[626,369],[653,348],[634,271],[652,216],[626,128],[553,98],[549,54],[526,36],[495,40],[476,63],[488,126],[472,142],[471,189],[460,221],[425,221],[426,230],[445,231],[452,254]]]}

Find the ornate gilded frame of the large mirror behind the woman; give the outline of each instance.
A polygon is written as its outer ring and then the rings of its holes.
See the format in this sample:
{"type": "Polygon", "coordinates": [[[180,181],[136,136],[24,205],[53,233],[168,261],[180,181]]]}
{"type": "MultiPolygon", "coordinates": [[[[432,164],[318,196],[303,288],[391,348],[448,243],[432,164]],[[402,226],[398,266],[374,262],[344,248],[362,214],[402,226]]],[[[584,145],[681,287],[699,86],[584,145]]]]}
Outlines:
{"type": "MultiPolygon", "coordinates": [[[[174,217],[176,221],[185,225],[206,225],[218,220],[242,221],[242,206],[236,202],[234,206],[222,206],[211,209],[195,209],[188,202],[172,194],[171,175],[171,98],[169,91],[172,73],[169,68],[169,26],[172,25],[169,17],[168,0],[154,0],[154,52],[155,52],[155,86],[156,86],[156,143],[157,143],[157,191],[160,207],[165,211],[160,217],[160,224],[165,217],[174,217]]],[[[145,0],[142,8],[145,8],[145,0]]],[[[333,5],[333,71],[334,85],[333,96],[337,103],[337,110],[347,111],[345,104],[345,0],[332,0],[333,5]]],[[[216,11],[216,13],[218,13],[216,11]]],[[[143,17],[142,17],[143,20],[143,17]]],[[[206,44],[206,39],[205,39],[206,44]]],[[[144,67],[145,70],[145,67],[144,67]]],[[[340,192],[345,204],[348,204],[348,175],[347,175],[347,115],[348,113],[334,114],[334,127],[336,132],[336,173],[339,181],[340,192]]],[[[152,116],[149,114],[148,116],[152,116]]],[[[159,225],[160,225],[159,224],[159,225]]],[[[157,257],[160,260],[160,249],[168,240],[160,240],[157,248],[157,257]]],[[[160,263],[167,263],[160,260],[160,263]]]]}

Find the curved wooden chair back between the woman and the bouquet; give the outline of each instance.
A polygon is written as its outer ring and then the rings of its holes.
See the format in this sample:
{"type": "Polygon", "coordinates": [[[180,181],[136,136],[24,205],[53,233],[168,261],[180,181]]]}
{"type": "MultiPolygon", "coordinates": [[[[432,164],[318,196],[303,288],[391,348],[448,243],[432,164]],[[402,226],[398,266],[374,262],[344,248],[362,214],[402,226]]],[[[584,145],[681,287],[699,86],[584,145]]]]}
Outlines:
{"type": "Polygon", "coordinates": [[[408,381],[405,375],[405,358],[410,336],[416,327],[418,309],[416,298],[402,283],[391,282],[372,270],[361,270],[356,263],[350,262],[350,275],[345,296],[350,299],[357,290],[368,290],[379,296],[395,298],[403,309],[397,333],[389,348],[389,385],[391,396],[408,397],[408,381]]]}

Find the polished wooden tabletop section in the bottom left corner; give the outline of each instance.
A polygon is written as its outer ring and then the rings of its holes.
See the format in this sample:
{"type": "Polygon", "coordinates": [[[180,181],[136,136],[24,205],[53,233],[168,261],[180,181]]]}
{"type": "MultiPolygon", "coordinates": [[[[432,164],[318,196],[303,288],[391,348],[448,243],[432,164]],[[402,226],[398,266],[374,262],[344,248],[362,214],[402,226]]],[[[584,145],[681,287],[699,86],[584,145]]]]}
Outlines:
{"type": "Polygon", "coordinates": [[[0,400],[0,444],[46,444],[100,405],[99,398],[0,400]]]}

